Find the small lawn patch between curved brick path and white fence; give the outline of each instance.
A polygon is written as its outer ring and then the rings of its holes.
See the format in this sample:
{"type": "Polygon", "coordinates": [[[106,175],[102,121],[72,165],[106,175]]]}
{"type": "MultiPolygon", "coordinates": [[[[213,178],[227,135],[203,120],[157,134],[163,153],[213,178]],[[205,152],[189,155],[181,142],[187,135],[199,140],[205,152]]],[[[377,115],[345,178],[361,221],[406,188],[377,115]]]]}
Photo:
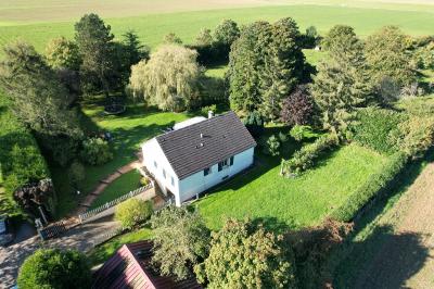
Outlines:
{"type": "Polygon", "coordinates": [[[113,181],[92,203],[97,208],[140,187],[140,173],[131,171],[113,181]]]}

